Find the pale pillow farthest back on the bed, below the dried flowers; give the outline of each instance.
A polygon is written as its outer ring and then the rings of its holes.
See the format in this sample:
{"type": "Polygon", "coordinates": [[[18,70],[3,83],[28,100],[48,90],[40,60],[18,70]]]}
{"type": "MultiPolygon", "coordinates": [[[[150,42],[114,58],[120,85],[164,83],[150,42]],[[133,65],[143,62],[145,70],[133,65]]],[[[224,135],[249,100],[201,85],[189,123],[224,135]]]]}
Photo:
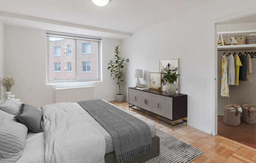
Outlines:
{"type": "Polygon", "coordinates": [[[18,100],[7,98],[4,102],[0,103],[0,110],[16,116],[20,112],[21,104],[18,100]]]}

